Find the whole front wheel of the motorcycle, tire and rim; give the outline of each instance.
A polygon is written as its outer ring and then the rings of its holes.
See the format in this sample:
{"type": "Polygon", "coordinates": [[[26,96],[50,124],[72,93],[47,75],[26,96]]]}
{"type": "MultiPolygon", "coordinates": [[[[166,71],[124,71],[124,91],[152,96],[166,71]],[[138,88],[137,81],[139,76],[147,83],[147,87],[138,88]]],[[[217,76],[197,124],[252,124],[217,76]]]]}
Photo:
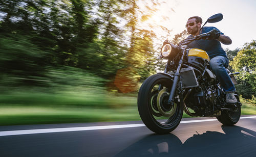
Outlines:
{"type": "Polygon", "coordinates": [[[139,90],[138,110],[140,117],[143,123],[157,134],[172,132],[182,118],[183,101],[181,95],[175,95],[173,106],[167,104],[172,85],[173,81],[169,76],[155,74],[148,77],[139,90]]]}

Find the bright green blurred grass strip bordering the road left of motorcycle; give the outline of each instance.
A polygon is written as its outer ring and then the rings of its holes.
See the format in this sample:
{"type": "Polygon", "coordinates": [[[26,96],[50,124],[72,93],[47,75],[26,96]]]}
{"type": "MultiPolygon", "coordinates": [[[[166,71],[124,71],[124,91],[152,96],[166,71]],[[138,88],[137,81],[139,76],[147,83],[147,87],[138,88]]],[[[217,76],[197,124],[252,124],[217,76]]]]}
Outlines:
{"type": "Polygon", "coordinates": [[[134,108],[0,107],[0,125],[139,120],[134,108]]]}

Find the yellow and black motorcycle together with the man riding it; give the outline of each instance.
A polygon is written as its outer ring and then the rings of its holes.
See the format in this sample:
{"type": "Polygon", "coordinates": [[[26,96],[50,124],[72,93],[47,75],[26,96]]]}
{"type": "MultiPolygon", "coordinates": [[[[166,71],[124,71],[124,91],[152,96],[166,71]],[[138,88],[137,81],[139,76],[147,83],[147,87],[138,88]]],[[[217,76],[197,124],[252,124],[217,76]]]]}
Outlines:
{"type": "MultiPolygon", "coordinates": [[[[221,13],[212,15],[204,25],[222,18],[221,13]]],[[[138,92],[141,120],[157,134],[172,132],[183,112],[189,116],[216,117],[225,125],[234,125],[240,119],[242,103],[230,79],[239,72],[228,75],[228,59],[220,43],[232,41],[214,27],[203,25],[201,29],[201,23],[200,17],[191,17],[186,24],[190,37],[178,45],[164,41],[164,72],[147,77],[138,92]]]]}

